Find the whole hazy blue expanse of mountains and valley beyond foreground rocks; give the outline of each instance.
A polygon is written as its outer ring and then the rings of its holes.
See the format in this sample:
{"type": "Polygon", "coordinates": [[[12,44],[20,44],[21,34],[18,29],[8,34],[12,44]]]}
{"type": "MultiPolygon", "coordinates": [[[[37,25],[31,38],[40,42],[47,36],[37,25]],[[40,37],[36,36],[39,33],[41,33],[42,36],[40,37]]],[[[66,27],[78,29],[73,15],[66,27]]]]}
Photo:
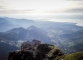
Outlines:
{"type": "Polygon", "coordinates": [[[83,27],[76,23],[0,18],[1,43],[19,47],[33,39],[53,44],[64,53],[83,51],[83,27]]]}

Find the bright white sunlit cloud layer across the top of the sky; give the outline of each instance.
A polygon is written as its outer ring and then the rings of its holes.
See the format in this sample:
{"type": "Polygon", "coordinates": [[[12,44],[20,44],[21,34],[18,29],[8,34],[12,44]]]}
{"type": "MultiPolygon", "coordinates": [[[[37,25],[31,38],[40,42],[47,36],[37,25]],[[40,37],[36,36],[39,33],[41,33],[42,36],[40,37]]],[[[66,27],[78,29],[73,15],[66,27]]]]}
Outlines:
{"type": "Polygon", "coordinates": [[[83,2],[77,0],[1,0],[0,3],[0,10],[4,8],[9,13],[61,13],[83,9],[83,2]]]}

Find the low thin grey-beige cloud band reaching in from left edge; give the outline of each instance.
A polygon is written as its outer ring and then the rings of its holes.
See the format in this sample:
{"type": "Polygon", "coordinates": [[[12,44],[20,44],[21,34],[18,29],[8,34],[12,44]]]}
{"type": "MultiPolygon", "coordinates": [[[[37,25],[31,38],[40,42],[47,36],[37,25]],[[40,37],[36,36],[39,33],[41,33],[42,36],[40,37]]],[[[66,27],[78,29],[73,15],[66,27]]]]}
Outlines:
{"type": "Polygon", "coordinates": [[[14,10],[7,7],[0,6],[0,14],[21,14],[21,13],[32,13],[33,9],[27,9],[27,10],[14,10]]]}

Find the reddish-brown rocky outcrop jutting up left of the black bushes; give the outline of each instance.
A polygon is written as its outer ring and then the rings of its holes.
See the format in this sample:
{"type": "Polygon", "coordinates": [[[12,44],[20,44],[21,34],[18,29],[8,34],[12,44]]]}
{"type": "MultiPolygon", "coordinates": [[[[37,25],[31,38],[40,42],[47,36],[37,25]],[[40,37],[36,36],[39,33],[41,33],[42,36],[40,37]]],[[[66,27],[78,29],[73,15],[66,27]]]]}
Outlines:
{"type": "Polygon", "coordinates": [[[22,51],[35,51],[37,50],[37,47],[41,44],[41,41],[39,40],[32,40],[30,41],[26,41],[21,45],[21,50],[22,51]]]}

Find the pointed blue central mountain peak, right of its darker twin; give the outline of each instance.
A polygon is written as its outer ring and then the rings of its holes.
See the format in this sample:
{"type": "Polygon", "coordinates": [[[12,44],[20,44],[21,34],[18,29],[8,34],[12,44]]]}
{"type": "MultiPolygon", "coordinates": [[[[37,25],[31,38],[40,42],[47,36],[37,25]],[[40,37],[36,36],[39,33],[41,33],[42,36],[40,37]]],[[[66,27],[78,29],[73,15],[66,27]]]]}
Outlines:
{"type": "Polygon", "coordinates": [[[41,28],[30,26],[28,29],[26,39],[39,39],[42,42],[49,42],[50,38],[47,36],[47,32],[41,28]],[[28,37],[29,36],[29,37],[28,37]]]}

